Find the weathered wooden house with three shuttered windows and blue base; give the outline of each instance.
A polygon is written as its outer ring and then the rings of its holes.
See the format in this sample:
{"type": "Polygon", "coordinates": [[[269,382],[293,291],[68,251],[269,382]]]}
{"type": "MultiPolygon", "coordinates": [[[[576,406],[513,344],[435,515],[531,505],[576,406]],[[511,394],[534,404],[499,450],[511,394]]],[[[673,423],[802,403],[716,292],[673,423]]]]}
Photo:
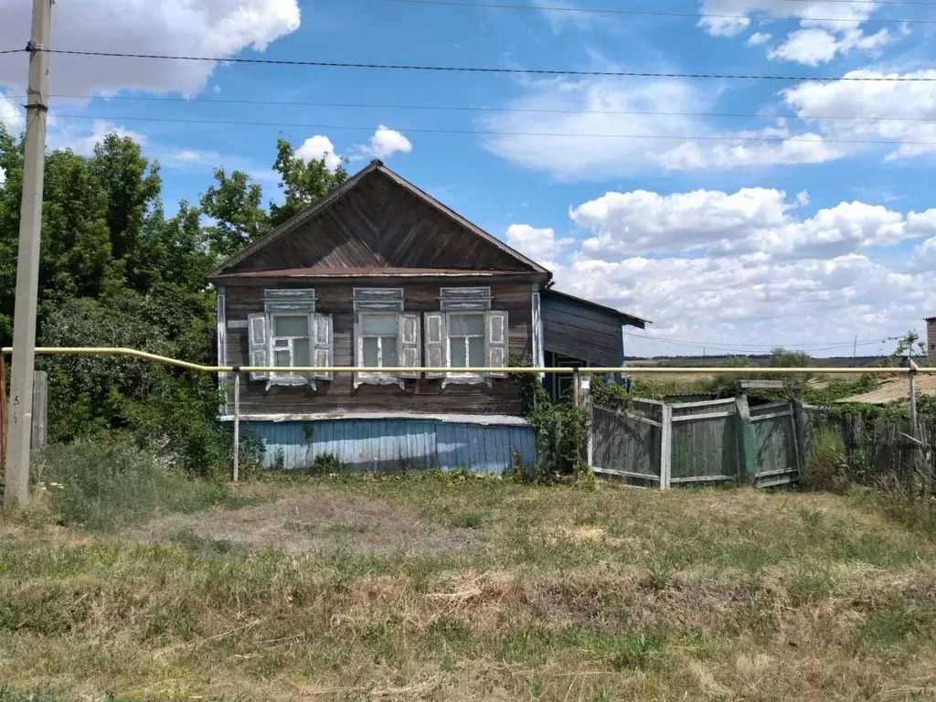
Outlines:
{"type": "Polygon", "coordinates": [[[271,466],[331,454],[358,468],[501,470],[535,461],[534,437],[514,383],[472,369],[620,366],[622,325],[644,326],[551,290],[551,277],[373,161],[209,274],[218,362],[284,369],[245,374],[240,390],[271,466]],[[288,370],[300,367],[407,370],[288,370]]]}

